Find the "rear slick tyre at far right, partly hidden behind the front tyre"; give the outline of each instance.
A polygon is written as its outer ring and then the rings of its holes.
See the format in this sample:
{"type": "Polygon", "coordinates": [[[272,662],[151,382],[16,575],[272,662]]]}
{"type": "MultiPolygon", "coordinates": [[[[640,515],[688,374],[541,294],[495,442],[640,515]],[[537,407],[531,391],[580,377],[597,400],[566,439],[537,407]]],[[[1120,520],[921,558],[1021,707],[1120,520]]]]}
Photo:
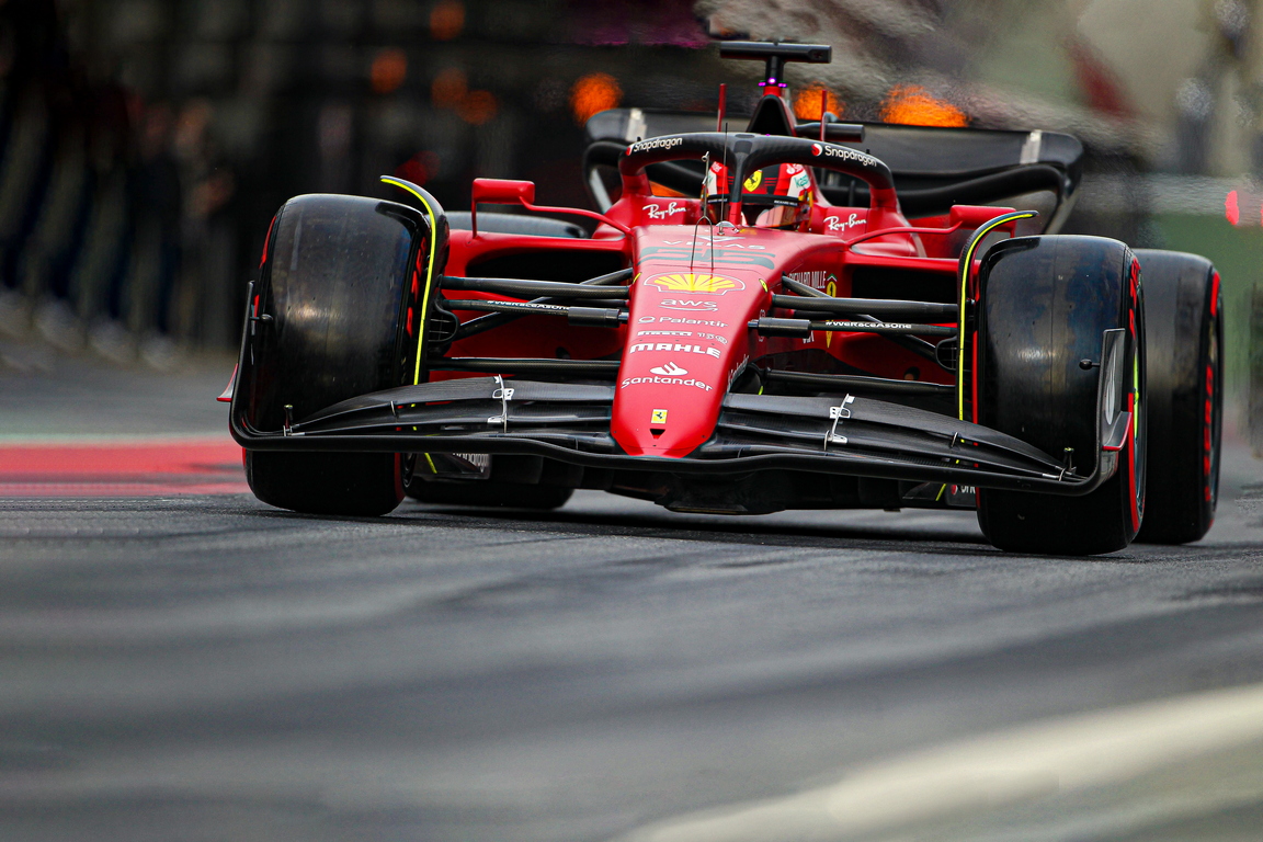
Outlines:
{"type": "Polygon", "coordinates": [[[1219,273],[1205,258],[1137,251],[1148,331],[1149,460],[1137,540],[1197,540],[1215,519],[1224,418],[1219,273]]]}

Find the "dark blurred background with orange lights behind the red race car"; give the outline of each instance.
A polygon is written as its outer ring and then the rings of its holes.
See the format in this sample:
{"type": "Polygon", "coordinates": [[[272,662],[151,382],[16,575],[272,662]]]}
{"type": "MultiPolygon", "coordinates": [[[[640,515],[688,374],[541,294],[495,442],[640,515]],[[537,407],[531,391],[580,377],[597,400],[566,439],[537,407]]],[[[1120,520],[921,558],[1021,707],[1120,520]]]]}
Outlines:
{"type": "Polygon", "coordinates": [[[1263,394],[1260,14],[1258,0],[0,0],[0,369],[227,356],[268,221],[294,194],[386,196],[376,179],[394,173],[462,210],[486,175],[590,207],[586,117],[712,111],[721,81],[740,112],[760,67],[720,62],[712,40],[749,37],[834,45],[830,66],[791,66],[813,91],[805,116],[823,88],[844,119],[1076,134],[1087,174],[1066,230],[1211,258],[1229,388],[1263,394]]]}

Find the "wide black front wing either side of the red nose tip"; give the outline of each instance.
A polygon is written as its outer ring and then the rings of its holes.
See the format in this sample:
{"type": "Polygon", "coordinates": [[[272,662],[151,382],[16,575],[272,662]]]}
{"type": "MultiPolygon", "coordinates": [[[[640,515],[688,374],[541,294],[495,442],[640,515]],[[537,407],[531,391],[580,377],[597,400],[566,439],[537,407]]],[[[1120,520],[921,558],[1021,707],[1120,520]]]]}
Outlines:
{"type": "MultiPolygon", "coordinates": [[[[1116,331],[1106,367],[1120,365],[1116,331]]],[[[1058,462],[1012,436],[883,400],[730,394],[715,434],[685,458],[628,456],[610,436],[614,386],[500,376],[400,386],[344,400],[282,430],[253,429],[234,401],[234,438],[250,449],[534,454],[594,468],[673,475],[797,470],[1084,495],[1113,476],[1130,414],[1111,414],[1100,377],[1090,466],[1058,462]],[[1086,471],[1084,468],[1087,468],[1086,471]]]]}

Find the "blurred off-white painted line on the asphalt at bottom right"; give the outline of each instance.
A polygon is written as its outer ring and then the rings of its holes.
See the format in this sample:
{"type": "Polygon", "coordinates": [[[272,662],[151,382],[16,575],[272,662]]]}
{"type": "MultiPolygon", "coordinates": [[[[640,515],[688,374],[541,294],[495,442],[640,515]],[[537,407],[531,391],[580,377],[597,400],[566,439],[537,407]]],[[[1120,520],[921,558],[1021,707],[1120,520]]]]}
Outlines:
{"type": "Polygon", "coordinates": [[[668,819],[626,842],[847,839],[1125,783],[1263,738],[1263,684],[985,733],[859,768],[836,784],[668,819]]]}

